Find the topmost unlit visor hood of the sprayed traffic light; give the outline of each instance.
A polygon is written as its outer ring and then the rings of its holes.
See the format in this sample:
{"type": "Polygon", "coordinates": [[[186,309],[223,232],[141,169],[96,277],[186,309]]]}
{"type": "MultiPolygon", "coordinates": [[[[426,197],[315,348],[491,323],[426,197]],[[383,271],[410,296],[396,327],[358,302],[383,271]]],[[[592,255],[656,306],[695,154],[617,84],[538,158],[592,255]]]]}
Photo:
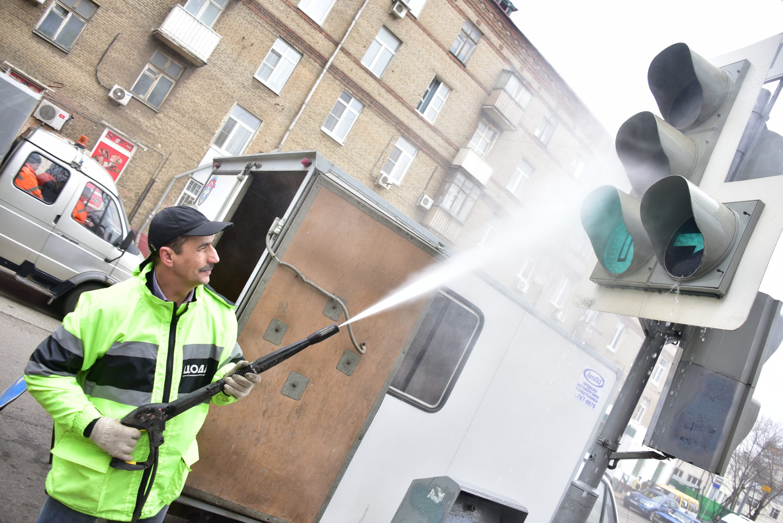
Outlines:
{"type": "Polygon", "coordinates": [[[718,110],[732,84],[726,72],[683,43],[655,56],[647,81],[663,119],[677,129],[698,124],[718,110]]]}

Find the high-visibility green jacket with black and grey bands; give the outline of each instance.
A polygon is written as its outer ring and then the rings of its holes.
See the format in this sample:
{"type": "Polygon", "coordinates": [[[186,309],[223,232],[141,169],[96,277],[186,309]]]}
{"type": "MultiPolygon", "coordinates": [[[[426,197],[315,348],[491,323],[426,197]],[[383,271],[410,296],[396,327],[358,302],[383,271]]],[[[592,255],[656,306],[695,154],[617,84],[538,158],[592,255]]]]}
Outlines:
{"type": "MultiPolygon", "coordinates": [[[[111,456],[83,432],[98,417],[122,418],[135,407],[169,402],[218,380],[243,358],[233,305],[208,287],[180,305],[146,286],[151,264],[113,287],[81,295],[78,307],[35,350],[27,390],[54,418],[52,470],[46,492],[99,518],[130,521],[142,471],[109,467],[111,456]]],[[[211,402],[236,399],[220,393],[211,402]]],[[[141,518],[175,500],[198,460],[196,434],[209,409],[193,407],[166,424],[157,478],[141,518]]],[[[145,433],[133,453],[146,460],[145,433]]]]}

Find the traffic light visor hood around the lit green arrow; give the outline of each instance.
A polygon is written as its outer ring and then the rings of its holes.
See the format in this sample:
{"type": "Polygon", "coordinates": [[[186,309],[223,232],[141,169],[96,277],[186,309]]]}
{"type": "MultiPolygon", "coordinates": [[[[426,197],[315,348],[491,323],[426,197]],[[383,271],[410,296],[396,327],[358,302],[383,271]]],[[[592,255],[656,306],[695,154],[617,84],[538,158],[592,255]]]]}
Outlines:
{"type": "Polygon", "coordinates": [[[655,182],[641,200],[640,213],[655,257],[677,280],[713,270],[738,232],[734,211],[681,176],[655,182]]]}

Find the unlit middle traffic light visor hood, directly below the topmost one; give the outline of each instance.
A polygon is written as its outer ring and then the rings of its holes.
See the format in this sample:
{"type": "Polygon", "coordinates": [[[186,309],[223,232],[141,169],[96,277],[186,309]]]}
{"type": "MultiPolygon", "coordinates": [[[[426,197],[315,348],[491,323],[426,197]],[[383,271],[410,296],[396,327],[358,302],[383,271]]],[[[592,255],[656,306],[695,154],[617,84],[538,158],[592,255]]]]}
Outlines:
{"type": "Polygon", "coordinates": [[[696,142],[649,111],[634,114],[620,126],[615,150],[640,195],[666,176],[687,177],[698,161],[696,142]]]}

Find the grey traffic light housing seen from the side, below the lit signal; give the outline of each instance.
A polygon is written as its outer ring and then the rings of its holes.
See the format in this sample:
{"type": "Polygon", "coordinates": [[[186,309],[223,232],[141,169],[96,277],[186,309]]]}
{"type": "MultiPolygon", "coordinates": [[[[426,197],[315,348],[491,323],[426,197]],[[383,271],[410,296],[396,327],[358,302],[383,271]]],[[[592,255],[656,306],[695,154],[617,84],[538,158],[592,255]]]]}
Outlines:
{"type": "Polygon", "coordinates": [[[783,340],[783,304],[758,293],[737,330],[689,326],[682,356],[661,392],[644,445],[714,474],[756,423],[753,399],[764,362],[783,340]]]}

